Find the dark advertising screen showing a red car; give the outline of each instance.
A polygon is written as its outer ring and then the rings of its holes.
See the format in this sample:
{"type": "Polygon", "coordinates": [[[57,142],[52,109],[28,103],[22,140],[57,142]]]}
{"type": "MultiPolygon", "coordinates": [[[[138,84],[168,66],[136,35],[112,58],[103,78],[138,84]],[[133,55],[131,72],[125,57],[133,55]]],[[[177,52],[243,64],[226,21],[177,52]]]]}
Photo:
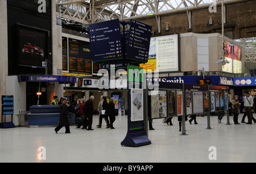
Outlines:
{"type": "Polygon", "coordinates": [[[48,32],[18,26],[19,65],[46,66],[48,32]]]}

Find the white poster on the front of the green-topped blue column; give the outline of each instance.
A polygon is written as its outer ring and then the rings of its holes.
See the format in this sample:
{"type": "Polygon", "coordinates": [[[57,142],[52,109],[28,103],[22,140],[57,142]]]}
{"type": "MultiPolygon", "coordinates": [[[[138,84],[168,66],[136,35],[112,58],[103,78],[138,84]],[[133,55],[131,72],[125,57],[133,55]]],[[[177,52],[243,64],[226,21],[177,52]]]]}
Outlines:
{"type": "Polygon", "coordinates": [[[131,121],[143,121],[143,90],[131,90],[131,121]]]}

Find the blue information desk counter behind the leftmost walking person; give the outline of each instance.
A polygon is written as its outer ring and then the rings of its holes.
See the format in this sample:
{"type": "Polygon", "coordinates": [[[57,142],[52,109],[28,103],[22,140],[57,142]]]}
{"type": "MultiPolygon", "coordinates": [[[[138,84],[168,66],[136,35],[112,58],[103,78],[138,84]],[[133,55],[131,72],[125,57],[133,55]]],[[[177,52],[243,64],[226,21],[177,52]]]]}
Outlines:
{"type": "MultiPolygon", "coordinates": [[[[75,124],[75,113],[68,107],[69,124],[75,124]]],[[[58,125],[60,117],[59,105],[33,105],[28,113],[28,125],[58,125]]]]}

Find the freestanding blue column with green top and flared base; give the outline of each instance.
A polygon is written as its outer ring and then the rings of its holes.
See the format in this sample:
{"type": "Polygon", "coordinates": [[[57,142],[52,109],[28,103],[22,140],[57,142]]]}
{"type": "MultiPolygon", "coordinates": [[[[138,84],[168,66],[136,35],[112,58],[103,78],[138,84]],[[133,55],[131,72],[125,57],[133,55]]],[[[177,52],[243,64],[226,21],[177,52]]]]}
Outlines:
{"type": "Polygon", "coordinates": [[[143,68],[128,66],[127,80],[127,134],[125,139],[121,142],[122,146],[138,147],[143,145],[150,145],[151,141],[148,139],[144,131],[144,103],[143,103],[143,68]]]}

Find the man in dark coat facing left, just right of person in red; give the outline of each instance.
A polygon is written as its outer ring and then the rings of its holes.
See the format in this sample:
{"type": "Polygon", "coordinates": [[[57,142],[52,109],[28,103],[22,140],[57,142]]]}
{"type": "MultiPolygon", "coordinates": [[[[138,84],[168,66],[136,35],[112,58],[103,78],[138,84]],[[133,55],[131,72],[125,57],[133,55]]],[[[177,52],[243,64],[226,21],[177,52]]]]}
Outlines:
{"type": "Polygon", "coordinates": [[[93,122],[93,100],[94,96],[90,96],[90,99],[85,101],[84,105],[84,114],[88,118],[88,121],[85,123],[84,128],[87,130],[93,130],[92,129],[92,122],[93,122]]]}

